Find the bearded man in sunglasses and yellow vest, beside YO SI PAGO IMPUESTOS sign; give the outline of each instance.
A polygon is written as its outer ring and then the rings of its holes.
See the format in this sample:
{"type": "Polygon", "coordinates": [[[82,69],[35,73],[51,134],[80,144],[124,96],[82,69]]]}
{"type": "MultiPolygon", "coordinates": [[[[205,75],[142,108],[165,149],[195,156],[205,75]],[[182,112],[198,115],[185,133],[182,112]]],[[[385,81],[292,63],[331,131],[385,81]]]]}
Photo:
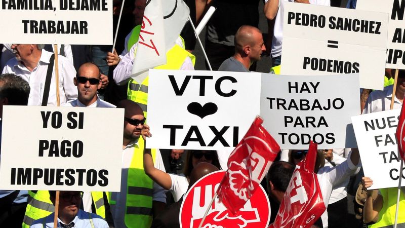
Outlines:
{"type": "MultiPolygon", "coordinates": [[[[145,143],[140,136],[146,119],[142,108],[131,100],[122,100],[117,107],[124,108],[125,113],[121,192],[111,193],[110,197],[115,228],[150,228],[152,215],[166,207],[166,191],[154,184],[143,170],[145,143]]],[[[152,156],[154,167],[166,172],[160,153],[152,156]]]]}

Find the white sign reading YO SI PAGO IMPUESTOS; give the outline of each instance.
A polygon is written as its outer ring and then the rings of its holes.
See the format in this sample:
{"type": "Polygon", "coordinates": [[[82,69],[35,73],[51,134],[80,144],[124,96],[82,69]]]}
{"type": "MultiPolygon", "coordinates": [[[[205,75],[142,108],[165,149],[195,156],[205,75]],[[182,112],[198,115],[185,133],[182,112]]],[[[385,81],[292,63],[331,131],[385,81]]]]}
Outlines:
{"type": "Polygon", "coordinates": [[[0,189],[119,192],[123,119],[118,108],[4,106],[0,189]]]}

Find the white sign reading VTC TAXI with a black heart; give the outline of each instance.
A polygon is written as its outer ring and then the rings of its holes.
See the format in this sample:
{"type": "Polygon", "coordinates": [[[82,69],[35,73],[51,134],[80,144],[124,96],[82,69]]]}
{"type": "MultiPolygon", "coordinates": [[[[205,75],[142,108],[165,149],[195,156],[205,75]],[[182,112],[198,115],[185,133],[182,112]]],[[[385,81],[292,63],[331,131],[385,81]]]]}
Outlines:
{"type": "Polygon", "coordinates": [[[259,113],[260,73],[149,70],[148,148],[234,147],[259,113]]]}

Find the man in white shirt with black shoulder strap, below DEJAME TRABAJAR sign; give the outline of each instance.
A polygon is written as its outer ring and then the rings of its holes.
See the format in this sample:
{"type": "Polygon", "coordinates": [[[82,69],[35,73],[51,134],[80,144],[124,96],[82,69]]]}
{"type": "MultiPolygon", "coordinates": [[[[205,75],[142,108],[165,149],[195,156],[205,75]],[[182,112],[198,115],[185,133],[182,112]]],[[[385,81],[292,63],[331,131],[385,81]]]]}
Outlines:
{"type": "MultiPolygon", "coordinates": [[[[10,59],[3,69],[3,73],[14,73],[28,82],[31,91],[28,105],[41,105],[43,101],[48,65],[51,52],[42,50],[44,45],[13,44],[11,49],[16,58],[10,59]]],[[[59,96],[60,104],[77,97],[77,90],[73,85],[76,70],[69,60],[58,55],[59,64],[59,96]]],[[[55,70],[52,72],[51,85],[47,106],[56,106],[55,70]]]]}

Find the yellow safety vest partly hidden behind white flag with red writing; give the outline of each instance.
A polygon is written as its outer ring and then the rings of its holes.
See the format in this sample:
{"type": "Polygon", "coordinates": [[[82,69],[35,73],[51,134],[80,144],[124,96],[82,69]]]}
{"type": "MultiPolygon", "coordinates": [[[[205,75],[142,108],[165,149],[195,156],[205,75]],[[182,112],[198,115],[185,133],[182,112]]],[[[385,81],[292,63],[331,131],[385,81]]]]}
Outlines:
{"type": "MultiPolygon", "coordinates": [[[[181,37],[180,37],[181,38],[181,37]]],[[[183,40],[183,39],[182,39],[183,40]]],[[[184,41],[183,41],[184,47],[184,41]]],[[[173,69],[178,70],[184,63],[184,60],[190,57],[193,65],[195,64],[195,56],[189,53],[188,51],[184,50],[184,48],[180,47],[179,45],[173,46],[167,53],[166,53],[166,60],[167,63],[164,65],[156,66],[154,69],[173,69]]],[[[148,103],[148,85],[149,85],[149,77],[146,77],[145,80],[139,84],[135,80],[131,79],[128,83],[128,100],[132,100],[139,104],[139,106],[143,110],[143,114],[146,118],[147,115],[147,103],[148,103]]]]}

